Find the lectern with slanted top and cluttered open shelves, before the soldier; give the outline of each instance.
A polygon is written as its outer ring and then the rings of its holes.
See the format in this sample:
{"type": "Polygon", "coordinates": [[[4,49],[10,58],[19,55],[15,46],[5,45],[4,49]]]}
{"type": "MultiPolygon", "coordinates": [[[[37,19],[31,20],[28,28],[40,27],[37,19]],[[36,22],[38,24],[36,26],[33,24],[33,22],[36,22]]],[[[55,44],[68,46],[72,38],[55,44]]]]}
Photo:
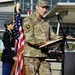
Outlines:
{"type": "MultiPolygon", "coordinates": [[[[47,48],[48,54],[47,62],[61,63],[61,73],[60,75],[64,75],[64,44],[63,38],[48,41],[46,44],[41,45],[40,48],[47,48]]],[[[59,70],[59,69],[55,69],[59,70]]],[[[54,74],[53,74],[54,75],[54,74]]]]}

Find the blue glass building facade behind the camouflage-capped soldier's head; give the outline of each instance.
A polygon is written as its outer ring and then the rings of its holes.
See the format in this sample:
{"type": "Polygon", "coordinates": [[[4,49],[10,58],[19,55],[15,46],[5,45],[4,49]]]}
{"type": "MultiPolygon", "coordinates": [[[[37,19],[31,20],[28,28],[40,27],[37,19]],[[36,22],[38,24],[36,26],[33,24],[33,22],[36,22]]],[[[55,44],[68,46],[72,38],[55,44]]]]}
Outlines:
{"type": "MultiPolygon", "coordinates": [[[[57,2],[75,2],[75,0],[47,0],[49,2],[49,9],[51,10],[57,2]]],[[[30,9],[31,14],[35,11],[37,0],[19,0],[21,5],[21,14],[27,14],[27,9],[30,9]]]]}

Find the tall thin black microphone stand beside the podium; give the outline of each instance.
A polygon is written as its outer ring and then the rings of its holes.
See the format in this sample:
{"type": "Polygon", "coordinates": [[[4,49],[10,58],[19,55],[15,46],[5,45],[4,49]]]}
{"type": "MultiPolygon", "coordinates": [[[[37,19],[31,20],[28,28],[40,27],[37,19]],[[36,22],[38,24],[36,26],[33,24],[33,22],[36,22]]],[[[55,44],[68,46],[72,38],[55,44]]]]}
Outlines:
{"type": "MultiPolygon", "coordinates": [[[[61,20],[61,22],[63,22],[63,20],[60,19],[60,18],[58,18],[58,28],[59,28],[59,26],[62,27],[62,34],[63,34],[62,45],[61,45],[60,48],[61,48],[61,51],[62,51],[62,75],[64,75],[64,58],[65,58],[64,45],[65,45],[65,43],[66,43],[66,46],[68,47],[68,43],[67,43],[66,35],[65,35],[65,32],[64,32],[64,27],[63,27],[63,25],[61,25],[60,20],[61,20]]],[[[58,34],[58,32],[57,32],[57,34],[58,34]]]]}

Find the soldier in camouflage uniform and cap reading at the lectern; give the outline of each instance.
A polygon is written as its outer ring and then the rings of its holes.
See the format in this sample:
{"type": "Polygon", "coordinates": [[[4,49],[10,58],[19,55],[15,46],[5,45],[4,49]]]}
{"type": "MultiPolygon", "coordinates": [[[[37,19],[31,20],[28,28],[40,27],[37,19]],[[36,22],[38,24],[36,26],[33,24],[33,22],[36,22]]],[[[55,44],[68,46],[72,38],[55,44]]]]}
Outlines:
{"type": "Polygon", "coordinates": [[[50,63],[45,61],[47,49],[40,49],[39,46],[48,40],[58,39],[52,27],[43,16],[47,12],[48,2],[38,0],[36,11],[23,20],[25,35],[24,64],[26,75],[51,75],[50,63]]]}

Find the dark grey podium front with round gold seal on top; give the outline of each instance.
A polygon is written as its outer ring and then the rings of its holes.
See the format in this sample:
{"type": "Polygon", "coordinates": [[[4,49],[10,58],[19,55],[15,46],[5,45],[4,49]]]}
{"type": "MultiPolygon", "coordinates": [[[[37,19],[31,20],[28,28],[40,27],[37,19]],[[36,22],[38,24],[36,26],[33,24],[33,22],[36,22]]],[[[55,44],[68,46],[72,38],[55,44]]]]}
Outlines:
{"type": "Polygon", "coordinates": [[[65,45],[64,75],[75,75],[75,38],[67,39],[68,48],[65,45]]]}

